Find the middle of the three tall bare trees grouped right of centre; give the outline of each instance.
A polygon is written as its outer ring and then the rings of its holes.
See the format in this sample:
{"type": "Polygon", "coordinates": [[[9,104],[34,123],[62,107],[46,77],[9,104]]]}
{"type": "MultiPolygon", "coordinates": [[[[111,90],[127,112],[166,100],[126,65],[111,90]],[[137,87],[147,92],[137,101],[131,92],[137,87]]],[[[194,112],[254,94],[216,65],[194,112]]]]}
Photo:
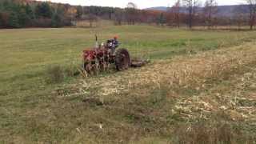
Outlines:
{"type": "Polygon", "coordinates": [[[184,6],[187,7],[188,10],[188,25],[190,29],[193,26],[194,15],[196,14],[197,8],[199,6],[199,0],[182,0],[184,6]]]}

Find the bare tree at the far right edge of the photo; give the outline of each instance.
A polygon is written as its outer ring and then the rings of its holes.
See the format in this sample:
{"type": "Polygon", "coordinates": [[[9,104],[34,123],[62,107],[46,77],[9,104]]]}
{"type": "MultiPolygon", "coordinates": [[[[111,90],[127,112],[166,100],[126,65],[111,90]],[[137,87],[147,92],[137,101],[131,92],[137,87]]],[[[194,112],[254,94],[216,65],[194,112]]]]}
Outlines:
{"type": "Polygon", "coordinates": [[[249,6],[249,25],[250,30],[254,29],[255,24],[255,16],[256,16],[256,0],[246,0],[248,6],[249,6]]]}

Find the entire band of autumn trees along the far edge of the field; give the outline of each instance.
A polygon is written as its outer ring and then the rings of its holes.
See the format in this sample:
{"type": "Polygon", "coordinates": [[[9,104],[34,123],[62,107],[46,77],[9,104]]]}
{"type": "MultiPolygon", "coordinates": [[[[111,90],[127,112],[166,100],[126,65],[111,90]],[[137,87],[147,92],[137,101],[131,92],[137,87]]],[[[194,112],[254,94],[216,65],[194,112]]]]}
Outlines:
{"type": "MultiPolygon", "coordinates": [[[[0,28],[62,27],[73,26],[79,21],[113,21],[115,25],[147,23],[160,26],[250,26],[256,21],[256,3],[237,6],[230,11],[232,17],[219,14],[215,0],[206,0],[200,6],[198,0],[177,0],[166,11],[139,10],[129,2],[125,9],[102,6],[70,6],[53,2],[31,0],[1,0],[0,28]],[[184,1],[184,2],[183,2],[184,1]],[[200,6],[200,7],[199,7],[200,6]],[[185,8],[186,9],[185,9],[185,8]],[[218,13],[218,14],[217,14],[218,13]]],[[[250,2],[250,1],[248,1],[250,2]]],[[[220,10],[219,10],[220,11],[220,10]]]]}

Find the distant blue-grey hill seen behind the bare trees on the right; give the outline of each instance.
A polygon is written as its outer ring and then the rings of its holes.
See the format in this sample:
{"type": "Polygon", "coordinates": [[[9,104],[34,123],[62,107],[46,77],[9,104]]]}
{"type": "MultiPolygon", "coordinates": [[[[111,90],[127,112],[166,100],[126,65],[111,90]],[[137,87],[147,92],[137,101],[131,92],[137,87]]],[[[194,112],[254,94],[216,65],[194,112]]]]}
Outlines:
{"type": "MultiPolygon", "coordinates": [[[[168,10],[168,7],[166,6],[158,6],[158,7],[150,7],[146,10],[162,10],[166,11],[168,10]]],[[[202,13],[203,8],[198,7],[198,12],[202,13]]],[[[241,13],[249,13],[248,8],[246,5],[233,5],[233,6],[218,6],[218,14],[217,16],[224,16],[224,17],[233,17],[234,14],[237,14],[238,12],[241,13]]],[[[186,7],[181,8],[181,13],[187,13],[186,7]]]]}

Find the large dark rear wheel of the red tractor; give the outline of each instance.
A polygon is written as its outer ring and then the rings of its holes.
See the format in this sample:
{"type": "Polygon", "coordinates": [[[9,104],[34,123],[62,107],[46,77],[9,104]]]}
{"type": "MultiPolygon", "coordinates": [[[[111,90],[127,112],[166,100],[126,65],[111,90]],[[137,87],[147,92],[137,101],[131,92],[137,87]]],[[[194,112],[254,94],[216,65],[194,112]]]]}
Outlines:
{"type": "Polygon", "coordinates": [[[130,66],[130,54],[126,49],[118,49],[115,54],[115,66],[117,70],[126,70],[130,66]]]}

